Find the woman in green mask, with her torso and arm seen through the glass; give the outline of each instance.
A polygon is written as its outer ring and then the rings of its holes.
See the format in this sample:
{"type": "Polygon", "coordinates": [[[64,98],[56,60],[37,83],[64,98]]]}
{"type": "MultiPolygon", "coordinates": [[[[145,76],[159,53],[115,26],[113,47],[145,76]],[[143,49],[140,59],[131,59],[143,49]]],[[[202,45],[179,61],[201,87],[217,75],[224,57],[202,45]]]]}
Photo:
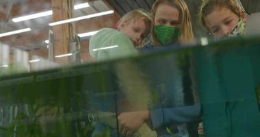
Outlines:
{"type": "MultiPolygon", "coordinates": [[[[152,25],[152,43],[147,45],[144,49],[141,49],[141,53],[145,52],[147,49],[155,49],[155,47],[162,47],[170,43],[175,44],[187,44],[194,40],[194,35],[192,33],[192,24],[190,21],[190,12],[187,8],[185,1],[183,0],[157,0],[153,4],[151,10],[151,16],[153,20],[152,25]]],[[[172,71],[169,71],[168,67],[173,67],[172,69],[179,69],[177,61],[172,62],[172,58],[164,58],[163,62],[161,60],[152,60],[152,62],[144,62],[144,66],[151,66],[151,79],[157,84],[157,87],[165,87],[167,95],[177,96],[183,94],[183,88],[179,87],[181,84],[181,75],[172,75],[172,71]],[[170,64],[166,64],[170,62],[170,64]],[[158,66],[158,67],[157,67],[158,66]],[[165,70],[164,70],[165,69],[165,70]],[[155,72],[153,72],[155,71],[155,72]],[[159,75],[156,71],[159,71],[159,75]],[[168,79],[170,78],[170,79],[168,79]],[[172,83],[175,86],[172,86],[172,83]],[[178,86],[178,87],[177,87],[178,86]],[[173,90],[178,90],[174,91],[173,90]]],[[[160,92],[160,90],[159,90],[160,92]]],[[[159,93],[160,94],[160,93],[159,93]]],[[[183,96],[183,95],[180,95],[183,96]]],[[[174,97],[172,97],[174,98],[174,97]]],[[[181,98],[181,97],[179,97],[181,98]]],[[[176,99],[170,99],[174,102],[176,99]]],[[[151,123],[152,129],[159,129],[161,133],[158,136],[165,136],[168,134],[168,127],[166,125],[181,125],[190,121],[198,121],[200,119],[200,107],[199,106],[187,106],[172,108],[172,102],[168,101],[168,108],[158,108],[154,110],[143,110],[138,112],[125,112],[118,116],[118,121],[122,128],[121,133],[123,135],[131,135],[136,129],[142,125],[142,123],[149,121],[151,123]]],[[[175,102],[174,104],[176,105],[175,102]]],[[[182,102],[181,105],[184,105],[182,102]]],[[[164,106],[161,106],[164,107],[164,106]]]]}

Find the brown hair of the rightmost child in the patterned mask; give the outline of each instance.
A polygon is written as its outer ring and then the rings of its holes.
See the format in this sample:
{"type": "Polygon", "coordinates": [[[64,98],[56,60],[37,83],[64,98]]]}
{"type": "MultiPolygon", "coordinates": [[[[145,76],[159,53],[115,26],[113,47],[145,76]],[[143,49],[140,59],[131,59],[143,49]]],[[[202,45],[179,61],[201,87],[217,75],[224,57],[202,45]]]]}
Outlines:
{"type": "Polygon", "coordinates": [[[198,20],[203,27],[208,29],[205,17],[216,10],[216,8],[227,8],[237,16],[242,16],[243,10],[237,0],[203,0],[200,5],[200,11],[198,12],[198,20]]]}

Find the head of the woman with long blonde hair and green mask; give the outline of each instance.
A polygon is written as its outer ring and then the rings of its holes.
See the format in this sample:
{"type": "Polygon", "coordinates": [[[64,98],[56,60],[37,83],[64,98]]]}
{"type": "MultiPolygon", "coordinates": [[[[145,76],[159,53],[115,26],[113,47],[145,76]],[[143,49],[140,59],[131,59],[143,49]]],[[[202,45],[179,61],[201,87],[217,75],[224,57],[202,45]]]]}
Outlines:
{"type": "Polygon", "coordinates": [[[194,40],[190,12],[183,0],[155,1],[151,10],[152,44],[186,44],[194,40]]]}

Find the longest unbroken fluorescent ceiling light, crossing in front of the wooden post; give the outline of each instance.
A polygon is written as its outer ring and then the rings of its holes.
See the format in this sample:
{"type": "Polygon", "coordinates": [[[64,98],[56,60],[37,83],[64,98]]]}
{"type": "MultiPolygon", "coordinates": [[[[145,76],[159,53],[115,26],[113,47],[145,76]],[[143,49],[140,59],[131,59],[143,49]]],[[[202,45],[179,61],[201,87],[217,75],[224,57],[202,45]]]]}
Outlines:
{"type": "Polygon", "coordinates": [[[109,10],[109,11],[106,11],[106,12],[99,12],[99,13],[90,14],[90,15],[86,15],[86,16],[79,16],[77,18],[70,18],[70,19],[66,19],[64,21],[57,21],[57,22],[54,22],[54,23],[49,23],[49,25],[50,26],[61,25],[61,24],[64,24],[64,23],[71,23],[71,22],[80,21],[80,20],[87,19],[87,18],[94,18],[96,16],[103,16],[103,15],[113,14],[113,13],[114,13],[114,10],[109,10]]]}

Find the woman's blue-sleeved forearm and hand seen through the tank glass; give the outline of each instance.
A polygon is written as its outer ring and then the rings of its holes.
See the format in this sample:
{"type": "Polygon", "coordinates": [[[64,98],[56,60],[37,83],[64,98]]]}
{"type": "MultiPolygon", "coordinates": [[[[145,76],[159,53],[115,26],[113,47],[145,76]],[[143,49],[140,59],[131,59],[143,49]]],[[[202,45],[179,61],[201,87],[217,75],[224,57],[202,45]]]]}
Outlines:
{"type": "Polygon", "coordinates": [[[132,132],[148,120],[151,121],[151,127],[153,129],[170,123],[181,124],[199,121],[200,105],[184,106],[179,108],[158,108],[150,111],[124,112],[118,116],[120,126],[125,130],[132,132]]]}

